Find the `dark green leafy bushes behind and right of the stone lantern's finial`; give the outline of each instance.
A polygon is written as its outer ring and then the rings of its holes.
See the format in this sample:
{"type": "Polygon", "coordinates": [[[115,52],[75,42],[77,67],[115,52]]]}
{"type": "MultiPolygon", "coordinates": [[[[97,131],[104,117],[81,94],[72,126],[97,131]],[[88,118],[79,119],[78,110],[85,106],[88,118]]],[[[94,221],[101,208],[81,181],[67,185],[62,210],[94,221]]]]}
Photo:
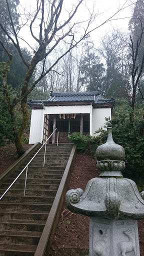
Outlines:
{"type": "MultiPolygon", "coordinates": [[[[111,126],[112,137],[115,143],[124,147],[125,150],[125,169],[123,175],[135,180],[144,179],[144,116],[143,108],[140,105],[135,106],[134,122],[131,122],[132,108],[126,100],[117,101],[114,109],[111,126]]],[[[106,119],[106,125],[109,126],[109,120],[106,119]]],[[[102,129],[97,130],[100,143],[105,142],[105,132],[102,129]]]]}

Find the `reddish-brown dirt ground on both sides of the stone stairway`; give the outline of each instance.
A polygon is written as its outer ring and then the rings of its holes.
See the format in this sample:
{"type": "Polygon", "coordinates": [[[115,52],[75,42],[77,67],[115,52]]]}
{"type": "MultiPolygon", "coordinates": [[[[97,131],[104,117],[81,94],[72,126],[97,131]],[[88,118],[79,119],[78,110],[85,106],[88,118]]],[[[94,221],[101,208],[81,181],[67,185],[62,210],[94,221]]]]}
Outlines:
{"type": "MultiPolygon", "coordinates": [[[[25,150],[30,147],[28,144],[24,144],[25,150]]],[[[13,144],[7,144],[4,147],[0,147],[0,173],[2,173],[7,167],[9,167],[15,160],[16,148],[13,144]]],[[[76,161],[72,169],[72,174],[69,182],[68,189],[82,188],[85,189],[86,183],[89,179],[98,176],[98,170],[95,167],[95,161],[91,156],[77,153],[76,161]]],[[[138,233],[139,233],[139,246],[140,256],[144,256],[144,220],[138,221],[138,233]]],[[[61,251],[68,248],[76,248],[78,251],[80,248],[89,247],[89,220],[88,217],[81,214],[75,214],[70,212],[65,205],[61,212],[61,217],[57,225],[55,235],[51,243],[50,255],[57,255],[58,250],[61,251]]],[[[66,255],[64,252],[59,255],[66,255]]],[[[69,256],[70,253],[67,254],[69,256]]],[[[75,252],[76,255],[85,255],[75,252]]]]}

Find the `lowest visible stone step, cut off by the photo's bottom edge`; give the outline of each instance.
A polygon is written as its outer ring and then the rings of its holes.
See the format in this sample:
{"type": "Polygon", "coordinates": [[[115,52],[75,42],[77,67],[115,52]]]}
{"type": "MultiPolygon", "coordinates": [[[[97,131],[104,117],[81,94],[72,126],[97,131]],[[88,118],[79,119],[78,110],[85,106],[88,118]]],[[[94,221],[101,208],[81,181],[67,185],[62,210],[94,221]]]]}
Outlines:
{"type": "Polygon", "coordinates": [[[37,245],[0,244],[0,256],[33,256],[37,245]]]}

